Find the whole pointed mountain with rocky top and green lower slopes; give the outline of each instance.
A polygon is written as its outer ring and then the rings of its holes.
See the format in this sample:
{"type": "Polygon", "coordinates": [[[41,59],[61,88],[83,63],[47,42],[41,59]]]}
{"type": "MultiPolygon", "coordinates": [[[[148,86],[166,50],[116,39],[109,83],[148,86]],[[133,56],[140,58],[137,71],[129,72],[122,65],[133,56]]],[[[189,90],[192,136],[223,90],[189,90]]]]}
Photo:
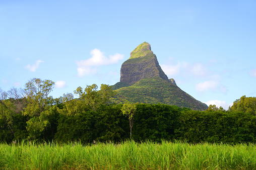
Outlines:
{"type": "Polygon", "coordinates": [[[120,70],[120,82],[112,86],[115,103],[125,100],[140,103],[163,103],[206,110],[208,106],[182,91],[174,79],[168,79],[161,69],[149,43],[140,44],[131,52],[120,70]]]}

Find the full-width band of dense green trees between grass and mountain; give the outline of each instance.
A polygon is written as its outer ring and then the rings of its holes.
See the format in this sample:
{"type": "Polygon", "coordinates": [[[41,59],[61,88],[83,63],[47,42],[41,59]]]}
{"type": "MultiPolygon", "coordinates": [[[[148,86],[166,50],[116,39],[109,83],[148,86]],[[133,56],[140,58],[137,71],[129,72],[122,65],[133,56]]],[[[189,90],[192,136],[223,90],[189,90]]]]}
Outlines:
{"type": "Polygon", "coordinates": [[[228,110],[197,111],[166,104],[112,103],[109,85],[78,87],[52,98],[54,82],[31,79],[24,89],[0,89],[0,142],[256,142],[256,98],[242,96],[228,110]]]}

